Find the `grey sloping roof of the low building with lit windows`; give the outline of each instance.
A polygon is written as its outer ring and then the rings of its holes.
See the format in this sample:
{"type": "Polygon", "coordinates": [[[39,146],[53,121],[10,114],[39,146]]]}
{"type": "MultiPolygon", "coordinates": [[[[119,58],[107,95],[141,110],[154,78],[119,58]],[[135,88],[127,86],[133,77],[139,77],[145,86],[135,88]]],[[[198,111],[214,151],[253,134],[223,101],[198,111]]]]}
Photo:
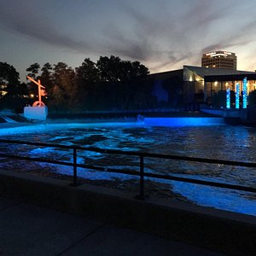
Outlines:
{"type": "Polygon", "coordinates": [[[195,66],[183,66],[183,68],[188,68],[192,72],[199,75],[201,78],[206,76],[223,76],[223,75],[246,75],[246,74],[256,74],[250,71],[232,70],[225,68],[211,68],[211,67],[195,67],[195,66]]]}

